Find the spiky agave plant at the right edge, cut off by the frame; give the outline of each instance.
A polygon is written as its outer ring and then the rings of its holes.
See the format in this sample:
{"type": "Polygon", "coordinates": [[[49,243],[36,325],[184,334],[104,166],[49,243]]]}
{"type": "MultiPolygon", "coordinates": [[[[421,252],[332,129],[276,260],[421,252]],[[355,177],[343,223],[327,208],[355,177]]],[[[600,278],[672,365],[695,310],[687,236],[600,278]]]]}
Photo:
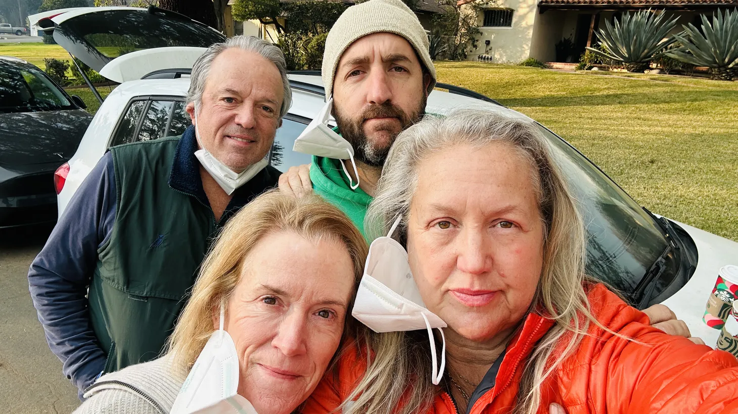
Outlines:
{"type": "Polygon", "coordinates": [[[683,27],[684,32],[674,35],[682,46],[666,52],[667,56],[707,66],[712,79],[732,80],[738,75],[738,10],[718,10],[712,24],[702,15],[702,32],[691,23],[683,27]]]}

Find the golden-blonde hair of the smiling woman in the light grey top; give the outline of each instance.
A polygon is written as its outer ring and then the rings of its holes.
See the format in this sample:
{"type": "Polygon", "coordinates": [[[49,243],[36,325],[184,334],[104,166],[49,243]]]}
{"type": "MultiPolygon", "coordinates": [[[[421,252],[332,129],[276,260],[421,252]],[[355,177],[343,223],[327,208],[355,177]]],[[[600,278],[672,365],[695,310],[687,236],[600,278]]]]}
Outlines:
{"type": "MultiPolygon", "coordinates": [[[[169,338],[168,348],[176,367],[189,370],[195,363],[213,334],[214,312],[219,312],[221,301],[230,298],[244,267],[249,265],[246,256],[264,236],[276,232],[294,232],[311,242],[341,242],[354,263],[354,291],[348,309],[353,307],[353,295],[368,253],[364,236],[342,211],[317,195],[296,198],[276,190],[266,192],[229,220],[207,254],[192,296],[169,338]]],[[[354,322],[348,315],[345,320],[347,337],[354,334],[350,329],[354,322]]]]}

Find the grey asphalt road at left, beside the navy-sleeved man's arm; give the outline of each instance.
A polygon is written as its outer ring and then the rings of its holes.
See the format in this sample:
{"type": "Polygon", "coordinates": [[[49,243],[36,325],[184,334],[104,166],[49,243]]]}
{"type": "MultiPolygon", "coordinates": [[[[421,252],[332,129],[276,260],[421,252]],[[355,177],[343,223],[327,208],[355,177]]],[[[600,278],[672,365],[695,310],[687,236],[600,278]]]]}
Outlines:
{"type": "Polygon", "coordinates": [[[61,373],[28,294],[28,267],[48,228],[0,230],[0,407],[3,413],[71,413],[77,389],[61,373]]]}

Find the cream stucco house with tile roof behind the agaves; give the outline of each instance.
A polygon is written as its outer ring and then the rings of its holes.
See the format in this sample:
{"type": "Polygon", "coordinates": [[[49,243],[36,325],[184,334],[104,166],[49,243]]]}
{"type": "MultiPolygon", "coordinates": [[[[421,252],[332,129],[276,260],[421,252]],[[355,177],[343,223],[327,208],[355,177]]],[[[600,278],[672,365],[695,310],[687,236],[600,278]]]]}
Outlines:
{"type": "Polygon", "coordinates": [[[718,9],[735,7],[738,0],[494,0],[477,15],[481,35],[467,59],[517,63],[535,57],[543,62],[578,62],[584,48],[597,42],[600,25],[619,19],[622,13],[644,9],[669,13],[678,17],[679,32],[682,24],[699,28],[702,14],[711,18],[718,9]],[[573,48],[557,56],[556,43],[565,39],[573,48]]]}

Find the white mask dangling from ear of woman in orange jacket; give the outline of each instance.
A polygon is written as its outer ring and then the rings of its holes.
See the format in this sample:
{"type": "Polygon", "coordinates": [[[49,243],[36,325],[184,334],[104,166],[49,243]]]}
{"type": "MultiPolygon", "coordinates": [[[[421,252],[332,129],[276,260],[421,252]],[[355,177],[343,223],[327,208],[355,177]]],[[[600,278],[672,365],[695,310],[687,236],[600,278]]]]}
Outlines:
{"type": "Polygon", "coordinates": [[[446,323],[423,304],[418,285],[410,272],[407,251],[392,238],[400,220],[401,217],[397,217],[387,236],[379,237],[371,243],[351,315],[375,332],[427,329],[432,358],[432,382],[438,385],[446,366],[446,337],[441,329],[446,327],[446,323]],[[444,342],[440,368],[435,352],[433,328],[441,331],[444,342]]]}

